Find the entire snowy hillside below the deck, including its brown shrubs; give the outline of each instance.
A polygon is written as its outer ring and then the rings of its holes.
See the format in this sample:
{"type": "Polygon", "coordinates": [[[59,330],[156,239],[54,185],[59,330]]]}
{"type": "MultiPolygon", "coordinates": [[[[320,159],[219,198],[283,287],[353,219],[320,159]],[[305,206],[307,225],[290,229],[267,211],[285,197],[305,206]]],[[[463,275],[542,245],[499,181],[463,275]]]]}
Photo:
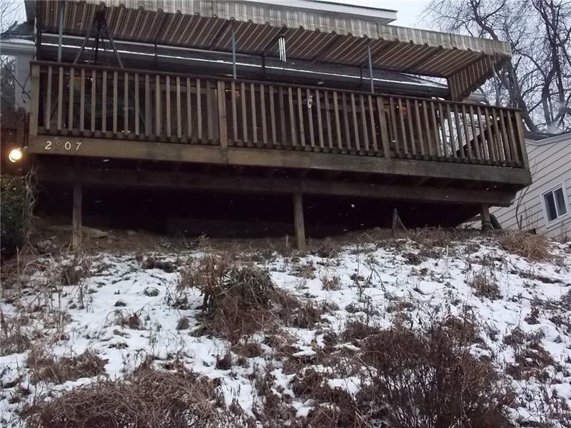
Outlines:
{"type": "MultiPolygon", "coordinates": [[[[375,387],[383,397],[407,389],[419,364],[420,377],[432,379],[434,362],[411,355],[432,352],[426,337],[453,337],[460,345],[450,352],[465,365],[444,367],[445,382],[468,379],[468,365],[497,372],[482,389],[460,385],[463,403],[477,407],[492,388],[516,427],[571,427],[571,243],[550,243],[542,254],[526,239],[500,237],[500,245],[420,233],[343,248],[327,242],[304,254],[233,253],[202,242],[183,252],[39,255],[17,280],[4,280],[0,425],[19,427],[27,417],[29,426],[76,427],[90,412],[118,414],[108,407],[123,399],[121,420],[139,414],[137,427],[167,420],[177,406],[185,409],[180,427],[399,427],[408,417],[400,411],[412,412],[419,428],[445,427],[422,422],[433,411],[426,394],[403,408],[402,396],[375,404],[363,397],[380,397],[375,387]],[[228,284],[232,291],[221,292],[228,284]],[[390,358],[380,365],[383,355],[390,358]],[[413,374],[390,377],[398,364],[413,374]],[[395,379],[403,387],[388,391],[395,379]]],[[[445,365],[448,348],[438,346],[445,365]]],[[[450,426],[480,420],[461,412],[450,426]]],[[[477,424],[507,423],[485,419],[477,424]]]]}

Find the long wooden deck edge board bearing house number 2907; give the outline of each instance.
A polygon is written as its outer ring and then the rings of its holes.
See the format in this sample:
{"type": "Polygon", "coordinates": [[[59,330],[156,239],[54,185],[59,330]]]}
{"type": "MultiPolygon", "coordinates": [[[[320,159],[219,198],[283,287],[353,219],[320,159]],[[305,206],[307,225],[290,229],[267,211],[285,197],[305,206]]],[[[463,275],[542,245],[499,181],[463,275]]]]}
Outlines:
{"type": "Polygon", "coordinates": [[[269,148],[221,148],[195,144],[155,143],[103,138],[30,136],[27,151],[31,154],[42,155],[212,163],[219,165],[449,178],[451,180],[473,180],[521,187],[531,183],[530,172],[525,168],[373,156],[348,156],[345,154],[269,148]]]}

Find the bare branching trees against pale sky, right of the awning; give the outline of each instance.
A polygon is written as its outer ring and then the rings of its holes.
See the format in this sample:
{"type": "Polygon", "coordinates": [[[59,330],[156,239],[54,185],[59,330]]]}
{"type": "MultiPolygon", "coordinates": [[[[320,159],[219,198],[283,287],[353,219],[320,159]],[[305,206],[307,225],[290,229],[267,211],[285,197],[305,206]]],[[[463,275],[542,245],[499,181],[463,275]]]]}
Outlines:
{"type": "Polygon", "coordinates": [[[443,31],[507,41],[512,61],[480,91],[522,110],[530,131],[571,130],[571,0],[432,0],[443,31]]]}

